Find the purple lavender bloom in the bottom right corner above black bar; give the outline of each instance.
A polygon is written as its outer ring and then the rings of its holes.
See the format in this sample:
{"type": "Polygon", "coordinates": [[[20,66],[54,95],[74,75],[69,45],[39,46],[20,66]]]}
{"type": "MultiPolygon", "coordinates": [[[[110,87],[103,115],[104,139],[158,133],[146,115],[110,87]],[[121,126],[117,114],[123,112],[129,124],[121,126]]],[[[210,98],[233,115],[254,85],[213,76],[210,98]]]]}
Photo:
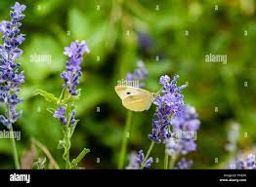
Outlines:
{"type": "Polygon", "coordinates": [[[246,161],[238,159],[235,164],[230,165],[231,169],[256,169],[255,155],[249,154],[246,161]]]}

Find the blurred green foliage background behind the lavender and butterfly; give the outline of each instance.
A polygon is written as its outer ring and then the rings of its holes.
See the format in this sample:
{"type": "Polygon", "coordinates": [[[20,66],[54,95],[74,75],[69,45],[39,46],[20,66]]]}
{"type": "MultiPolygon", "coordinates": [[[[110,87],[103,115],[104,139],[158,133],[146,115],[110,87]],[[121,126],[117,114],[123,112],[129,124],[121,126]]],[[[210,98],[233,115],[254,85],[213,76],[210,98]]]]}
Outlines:
{"type": "MultiPolygon", "coordinates": [[[[9,19],[15,1],[0,1],[0,19],[9,19]]],[[[201,127],[197,150],[187,158],[192,168],[226,168],[235,153],[225,150],[229,124],[240,125],[238,150],[250,151],[256,142],[256,17],[253,0],[20,0],[25,4],[21,32],[21,67],[26,81],[21,86],[22,117],[14,126],[21,131],[19,155],[34,137],[43,143],[60,165],[58,150],[62,129],[47,111],[51,107],[36,89],[59,95],[66,57],[64,47],[85,40],[91,53],[82,62],[80,122],[72,137],[71,158],[91,149],[85,168],[116,168],[126,109],[113,87],[132,72],[138,60],[149,70],[146,88],[157,92],[161,75],[179,74],[186,82],[186,103],[195,106],[201,127]],[[187,32],[189,31],[189,32],[187,32]],[[205,61],[209,54],[227,55],[227,64],[205,61]],[[33,55],[50,55],[50,62],[31,61],[33,55]],[[247,84],[247,85],[246,85],[247,84]],[[97,112],[100,107],[100,112],[97,112]],[[218,112],[215,108],[218,107],[218,112]],[[244,135],[247,133],[247,136],[244,135]],[[100,163],[97,163],[100,158],[100,163]],[[218,158],[218,163],[215,163],[218,158]]],[[[2,110],[3,111],[3,110],[2,110]]],[[[154,107],[133,116],[128,152],[149,148],[148,134],[154,107]]],[[[1,130],[4,127],[1,126],[1,130]]],[[[152,157],[163,165],[164,146],[152,157]]],[[[38,151],[38,156],[42,156],[38,151]]],[[[126,165],[128,164],[128,161],[126,165]]],[[[0,168],[14,168],[9,139],[0,139],[0,168]]]]}

